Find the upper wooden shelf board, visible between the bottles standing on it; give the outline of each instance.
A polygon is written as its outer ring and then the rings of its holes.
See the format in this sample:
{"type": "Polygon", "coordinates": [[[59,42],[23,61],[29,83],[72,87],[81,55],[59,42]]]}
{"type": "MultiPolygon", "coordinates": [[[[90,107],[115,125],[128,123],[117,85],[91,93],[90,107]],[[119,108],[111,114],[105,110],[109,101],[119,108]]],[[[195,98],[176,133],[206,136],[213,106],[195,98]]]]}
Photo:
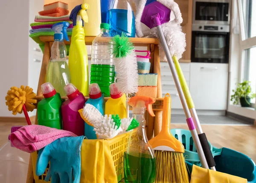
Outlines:
{"type": "MultiPolygon", "coordinates": [[[[66,45],[70,45],[71,43],[71,36],[68,37],[70,41],[64,41],[66,45]]],[[[92,45],[92,42],[95,37],[93,36],[86,36],[84,37],[84,41],[86,45],[92,45]]],[[[54,36],[40,36],[39,39],[43,42],[52,42],[54,41],[54,36]]],[[[111,38],[102,37],[102,42],[108,42],[111,38]]],[[[134,43],[135,46],[148,46],[149,44],[158,45],[159,40],[156,38],[142,38],[142,37],[132,37],[130,38],[131,42],[134,43]]]]}

